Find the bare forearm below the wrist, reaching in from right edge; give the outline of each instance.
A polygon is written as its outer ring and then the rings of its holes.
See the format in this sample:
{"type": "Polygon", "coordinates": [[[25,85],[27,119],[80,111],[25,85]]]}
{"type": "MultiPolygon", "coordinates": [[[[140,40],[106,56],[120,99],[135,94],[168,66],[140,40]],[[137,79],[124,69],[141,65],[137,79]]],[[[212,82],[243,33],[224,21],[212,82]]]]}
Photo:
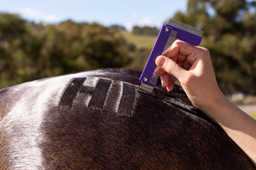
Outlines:
{"type": "Polygon", "coordinates": [[[204,108],[208,116],[223,127],[236,144],[256,162],[256,122],[236,105],[230,103],[223,94],[204,108]]]}

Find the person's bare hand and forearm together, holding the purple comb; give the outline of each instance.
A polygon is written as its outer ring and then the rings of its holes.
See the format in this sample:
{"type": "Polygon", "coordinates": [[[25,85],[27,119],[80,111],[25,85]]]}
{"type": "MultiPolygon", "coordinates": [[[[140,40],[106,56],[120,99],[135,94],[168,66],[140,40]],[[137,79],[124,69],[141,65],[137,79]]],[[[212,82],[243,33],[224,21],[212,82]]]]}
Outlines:
{"type": "Polygon", "coordinates": [[[176,77],[192,105],[218,122],[255,164],[256,121],[226,99],[218,88],[207,48],[177,40],[155,63],[159,66],[155,74],[161,77],[162,87],[172,91],[172,77],[176,77]]]}

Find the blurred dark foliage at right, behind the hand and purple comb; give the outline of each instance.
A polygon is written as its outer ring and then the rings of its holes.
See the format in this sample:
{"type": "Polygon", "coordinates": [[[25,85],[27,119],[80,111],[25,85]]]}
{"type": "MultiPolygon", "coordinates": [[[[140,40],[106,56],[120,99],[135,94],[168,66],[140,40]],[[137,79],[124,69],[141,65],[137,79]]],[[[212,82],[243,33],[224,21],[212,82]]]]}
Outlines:
{"type": "Polygon", "coordinates": [[[225,94],[256,94],[256,12],[246,0],[189,0],[173,19],[204,31],[202,46],[212,55],[225,94]]]}

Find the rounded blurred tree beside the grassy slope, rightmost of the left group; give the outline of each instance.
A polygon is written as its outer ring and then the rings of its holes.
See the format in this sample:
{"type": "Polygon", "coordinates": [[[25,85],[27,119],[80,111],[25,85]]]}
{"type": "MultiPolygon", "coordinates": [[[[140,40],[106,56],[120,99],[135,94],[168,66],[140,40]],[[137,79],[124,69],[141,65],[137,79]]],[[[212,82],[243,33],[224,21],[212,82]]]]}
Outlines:
{"type": "Polygon", "coordinates": [[[122,67],[130,64],[129,44],[115,29],[96,23],[84,26],[83,54],[90,67],[122,67]]]}

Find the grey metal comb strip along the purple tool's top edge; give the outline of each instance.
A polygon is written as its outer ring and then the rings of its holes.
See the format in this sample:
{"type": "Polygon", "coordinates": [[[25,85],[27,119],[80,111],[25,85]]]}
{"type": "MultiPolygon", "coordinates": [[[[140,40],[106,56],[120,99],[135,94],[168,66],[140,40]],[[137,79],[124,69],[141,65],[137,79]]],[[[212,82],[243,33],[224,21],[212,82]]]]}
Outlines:
{"type": "Polygon", "coordinates": [[[195,27],[192,27],[192,26],[185,25],[181,22],[178,22],[177,20],[169,20],[168,24],[172,25],[172,26],[175,26],[179,29],[182,29],[184,31],[189,31],[190,33],[195,34],[196,36],[199,36],[199,37],[201,37],[204,33],[204,31],[201,31],[201,30],[199,30],[195,27]]]}

